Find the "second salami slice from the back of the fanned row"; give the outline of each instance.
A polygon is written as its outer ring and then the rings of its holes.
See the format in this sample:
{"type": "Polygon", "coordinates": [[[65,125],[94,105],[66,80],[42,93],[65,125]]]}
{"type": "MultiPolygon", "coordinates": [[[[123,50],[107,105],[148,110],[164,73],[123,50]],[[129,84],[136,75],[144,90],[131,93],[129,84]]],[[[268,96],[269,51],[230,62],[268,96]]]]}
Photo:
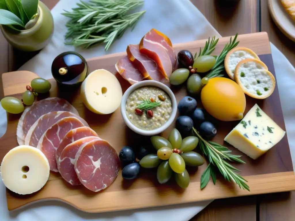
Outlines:
{"type": "Polygon", "coordinates": [[[25,145],[30,145],[33,147],[37,147],[38,142],[45,133],[45,131],[50,128],[53,124],[58,122],[60,119],[64,117],[76,117],[78,118],[84,125],[89,126],[88,123],[77,116],[74,113],[69,111],[53,111],[42,115],[30,128],[27,133],[27,136],[24,140],[25,145]]]}

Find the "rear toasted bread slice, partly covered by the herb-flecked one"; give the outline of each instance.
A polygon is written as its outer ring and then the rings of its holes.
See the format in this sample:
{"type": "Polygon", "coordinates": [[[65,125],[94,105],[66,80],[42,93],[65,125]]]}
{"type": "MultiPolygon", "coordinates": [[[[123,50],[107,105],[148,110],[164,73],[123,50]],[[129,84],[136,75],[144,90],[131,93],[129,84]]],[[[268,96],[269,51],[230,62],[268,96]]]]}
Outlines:
{"type": "Polygon", "coordinates": [[[241,60],[248,59],[248,58],[255,58],[260,60],[258,55],[255,54],[255,52],[253,52],[251,49],[246,47],[237,47],[227,53],[224,59],[224,67],[228,76],[232,80],[235,80],[234,75],[235,75],[235,68],[237,64],[241,60]]]}

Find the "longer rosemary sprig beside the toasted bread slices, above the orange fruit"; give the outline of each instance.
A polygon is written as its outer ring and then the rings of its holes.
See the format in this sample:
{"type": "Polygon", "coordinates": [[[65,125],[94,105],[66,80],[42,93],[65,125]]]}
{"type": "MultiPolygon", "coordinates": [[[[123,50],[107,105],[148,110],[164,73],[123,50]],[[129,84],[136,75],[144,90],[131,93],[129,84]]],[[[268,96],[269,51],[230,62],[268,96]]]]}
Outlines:
{"type": "Polygon", "coordinates": [[[213,78],[213,77],[224,76],[224,74],[222,73],[225,70],[224,58],[227,55],[227,52],[229,52],[230,50],[232,50],[239,44],[239,41],[236,42],[237,37],[238,37],[238,34],[235,35],[235,38],[233,39],[233,41],[232,41],[232,37],[230,37],[230,42],[225,44],[224,49],[222,50],[222,52],[216,59],[215,65],[212,67],[212,70],[209,72],[208,75],[206,75],[206,77],[213,78]]]}

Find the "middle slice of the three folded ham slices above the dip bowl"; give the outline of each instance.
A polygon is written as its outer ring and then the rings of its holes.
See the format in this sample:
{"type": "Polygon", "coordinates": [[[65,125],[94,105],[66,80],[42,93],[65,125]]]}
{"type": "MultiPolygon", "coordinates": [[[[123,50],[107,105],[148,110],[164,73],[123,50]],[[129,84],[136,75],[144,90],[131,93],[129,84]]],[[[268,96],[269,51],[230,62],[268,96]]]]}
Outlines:
{"type": "Polygon", "coordinates": [[[142,75],[149,80],[156,80],[162,83],[166,83],[167,79],[163,76],[159,70],[155,61],[149,57],[143,55],[139,51],[139,44],[130,44],[127,47],[127,56],[142,75]]]}

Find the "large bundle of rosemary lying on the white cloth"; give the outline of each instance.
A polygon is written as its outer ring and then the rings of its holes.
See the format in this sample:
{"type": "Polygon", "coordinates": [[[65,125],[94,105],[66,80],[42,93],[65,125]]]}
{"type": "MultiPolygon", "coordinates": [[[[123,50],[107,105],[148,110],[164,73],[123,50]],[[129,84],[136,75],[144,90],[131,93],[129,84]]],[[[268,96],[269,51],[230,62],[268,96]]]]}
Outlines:
{"type": "Polygon", "coordinates": [[[90,0],[81,1],[73,11],[65,11],[67,22],[66,44],[89,48],[94,44],[106,43],[107,51],[112,43],[133,28],[145,11],[130,14],[130,10],[141,6],[140,0],[90,0]]]}

